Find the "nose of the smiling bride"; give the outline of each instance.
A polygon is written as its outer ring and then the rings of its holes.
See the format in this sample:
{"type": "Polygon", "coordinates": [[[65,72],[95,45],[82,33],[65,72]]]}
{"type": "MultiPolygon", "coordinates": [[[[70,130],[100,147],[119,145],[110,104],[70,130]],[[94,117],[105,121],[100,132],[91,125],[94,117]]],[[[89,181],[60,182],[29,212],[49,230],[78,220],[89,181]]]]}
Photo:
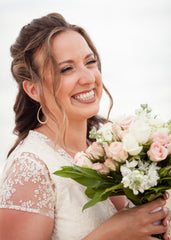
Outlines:
{"type": "Polygon", "coordinates": [[[88,69],[87,67],[82,67],[79,70],[79,83],[80,84],[91,84],[95,82],[95,74],[92,69],[88,69]]]}

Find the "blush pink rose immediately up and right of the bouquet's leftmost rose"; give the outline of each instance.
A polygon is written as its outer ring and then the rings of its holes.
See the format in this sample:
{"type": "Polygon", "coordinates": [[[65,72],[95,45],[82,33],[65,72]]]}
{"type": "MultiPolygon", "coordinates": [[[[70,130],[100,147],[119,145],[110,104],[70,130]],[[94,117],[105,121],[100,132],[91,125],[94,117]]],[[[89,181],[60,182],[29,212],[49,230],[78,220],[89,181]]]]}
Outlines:
{"type": "Polygon", "coordinates": [[[97,142],[93,142],[86,150],[88,157],[98,159],[104,156],[104,149],[102,145],[97,142]]]}

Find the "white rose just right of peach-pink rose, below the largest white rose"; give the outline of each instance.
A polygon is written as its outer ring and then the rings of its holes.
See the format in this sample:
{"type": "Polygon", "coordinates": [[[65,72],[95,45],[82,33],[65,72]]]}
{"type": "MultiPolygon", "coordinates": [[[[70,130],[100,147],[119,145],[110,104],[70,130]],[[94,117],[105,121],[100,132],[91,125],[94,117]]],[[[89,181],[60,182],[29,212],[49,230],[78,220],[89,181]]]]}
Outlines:
{"type": "Polygon", "coordinates": [[[128,133],[123,137],[123,149],[130,155],[135,156],[142,150],[133,134],[128,133]]]}

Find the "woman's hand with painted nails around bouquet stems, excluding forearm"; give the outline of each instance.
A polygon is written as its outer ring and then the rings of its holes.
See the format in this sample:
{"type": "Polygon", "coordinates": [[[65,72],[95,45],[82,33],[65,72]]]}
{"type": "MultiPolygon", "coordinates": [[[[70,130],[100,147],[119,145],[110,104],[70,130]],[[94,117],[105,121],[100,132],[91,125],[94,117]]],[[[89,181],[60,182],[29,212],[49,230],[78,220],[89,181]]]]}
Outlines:
{"type": "MultiPolygon", "coordinates": [[[[162,208],[160,211],[150,213],[152,210],[163,207],[166,200],[157,199],[153,202],[134,207],[129,210],[118,212],[113,216],[114,223],[113,238],[120,240],[154,240],[152,234],[165,233],[166,225],[154,225],[153,223],[166,219],[168,213],[162,208]]],[[[166,238],[165,238],[166,239],[166,238]]],[[[167,238],[168,239],[168,238],[167,238]]]]}

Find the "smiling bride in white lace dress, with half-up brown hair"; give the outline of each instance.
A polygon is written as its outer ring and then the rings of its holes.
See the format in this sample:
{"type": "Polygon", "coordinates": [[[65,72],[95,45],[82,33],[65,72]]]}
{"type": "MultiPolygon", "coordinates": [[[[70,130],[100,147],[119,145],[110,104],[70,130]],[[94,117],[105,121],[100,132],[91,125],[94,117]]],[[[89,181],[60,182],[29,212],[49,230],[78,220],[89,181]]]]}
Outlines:
{"type": "Polygon", "coordinates": [[[49,14],[22,28],[11,55],[18,139],[0,182],[0,239],[152,240],[159,233],[170,239],[167,194],[134,208],[114,197],[82,212],[84,187],[53,174],[73,164],[90,143],[91,127],[105,121],[96,114],[108,91],[85,30],[49,14]],[[160,219],[162,225],[153,224],[160,219]]]}

